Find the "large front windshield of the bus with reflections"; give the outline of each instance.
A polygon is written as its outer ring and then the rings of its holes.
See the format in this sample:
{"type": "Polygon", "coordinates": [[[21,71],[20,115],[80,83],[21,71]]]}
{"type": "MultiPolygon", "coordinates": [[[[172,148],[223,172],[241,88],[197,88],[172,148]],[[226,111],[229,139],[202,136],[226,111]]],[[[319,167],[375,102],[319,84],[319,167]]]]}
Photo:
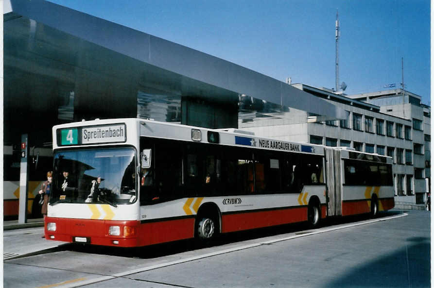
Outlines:
{"type": "Polygon", "coordinates": [[[50,203],[134,203],[136,167],[132,148],[56,152],[50,203]]]}

